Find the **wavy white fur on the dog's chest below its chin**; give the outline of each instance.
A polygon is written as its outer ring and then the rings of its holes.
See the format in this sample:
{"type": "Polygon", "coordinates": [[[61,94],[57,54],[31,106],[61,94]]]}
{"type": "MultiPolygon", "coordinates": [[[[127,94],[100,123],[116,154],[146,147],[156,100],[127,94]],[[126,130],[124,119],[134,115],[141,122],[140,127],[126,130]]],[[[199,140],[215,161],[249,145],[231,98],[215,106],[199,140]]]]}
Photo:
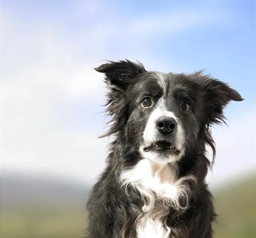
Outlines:
{"type": "Polygon", "coordinates": [[[175,166],[158,165],[147,159],[141,160],[133,169],[123,171],[122,185],[131,184],[144,200],[143,213],[137,218],[138,238],[168,238],[170,228],[165,224],[165,217],[169,207],[186,208],[180,206],[179,198],[188,198],[190,190],[184,181],[193,178],[177,179],[176,171],[175,166]],[[156,207],[158,200],[161,205],[156,207]]]}

